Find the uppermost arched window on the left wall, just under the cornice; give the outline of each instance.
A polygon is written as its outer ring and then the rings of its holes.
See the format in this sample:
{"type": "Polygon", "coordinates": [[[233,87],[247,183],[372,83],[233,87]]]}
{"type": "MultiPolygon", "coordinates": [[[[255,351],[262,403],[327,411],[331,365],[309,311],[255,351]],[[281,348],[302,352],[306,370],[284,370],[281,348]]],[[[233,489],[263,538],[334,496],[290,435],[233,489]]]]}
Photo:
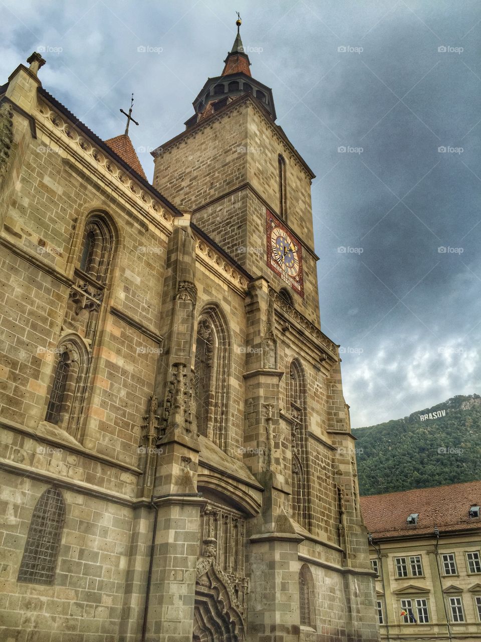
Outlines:
{"type": "Polygon", "coordinates": [[[106,281],[112,256],[112,231],[97,214],[90,216],[83,232],[80,269],[100,283],[106,281]]]}

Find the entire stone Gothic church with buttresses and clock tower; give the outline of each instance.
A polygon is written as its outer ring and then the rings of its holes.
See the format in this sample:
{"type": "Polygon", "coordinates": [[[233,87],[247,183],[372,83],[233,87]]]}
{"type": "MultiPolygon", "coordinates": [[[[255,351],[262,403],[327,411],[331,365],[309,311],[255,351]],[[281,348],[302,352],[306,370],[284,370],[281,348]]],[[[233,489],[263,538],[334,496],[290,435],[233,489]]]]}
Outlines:
{"type": "Polygon", "coordinates": [[[153,184],[44,62],[0,87],[0,639],[377,640],[314,175],[239,33],[153,184]]]}

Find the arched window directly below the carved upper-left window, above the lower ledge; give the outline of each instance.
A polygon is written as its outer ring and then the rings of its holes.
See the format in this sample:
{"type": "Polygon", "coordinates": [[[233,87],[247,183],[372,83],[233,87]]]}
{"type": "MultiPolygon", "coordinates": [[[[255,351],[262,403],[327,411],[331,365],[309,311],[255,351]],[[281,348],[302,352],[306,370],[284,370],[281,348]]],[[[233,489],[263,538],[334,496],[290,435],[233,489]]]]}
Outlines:
{"type": "Polygon", "coordinates": [[[76,437],[89,352],[77,335],[63,338],[56,352],[58,357],[49,386],[45,421],[76,437]]]}

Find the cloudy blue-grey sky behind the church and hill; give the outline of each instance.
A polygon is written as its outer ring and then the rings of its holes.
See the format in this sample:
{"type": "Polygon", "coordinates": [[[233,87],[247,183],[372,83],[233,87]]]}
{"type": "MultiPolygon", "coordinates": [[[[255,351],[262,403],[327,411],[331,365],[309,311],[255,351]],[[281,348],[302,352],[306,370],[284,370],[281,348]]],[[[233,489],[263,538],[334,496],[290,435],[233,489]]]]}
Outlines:
{"type": "Polygon", "coordinates": [[[44,87],[103,139],[134,92],[151,178],[149,150],[221,73],[235,10],[252,74],[317,175],[321,323],[342,346],[353,426],[480,393],[478,0],[2,0],[0,82],[42,51],[44,87]]]}

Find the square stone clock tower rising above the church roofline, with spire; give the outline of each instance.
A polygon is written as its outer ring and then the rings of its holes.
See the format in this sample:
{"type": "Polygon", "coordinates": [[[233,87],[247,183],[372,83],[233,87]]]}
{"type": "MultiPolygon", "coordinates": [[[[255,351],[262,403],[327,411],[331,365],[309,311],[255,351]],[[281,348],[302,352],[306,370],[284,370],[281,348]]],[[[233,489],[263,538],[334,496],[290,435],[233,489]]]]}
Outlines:
{"type": "Polygon", "coordinates": [[[249,273],[289,293],[296,309],[319,325],[314,173],[276,125],[272,91],[252,78],[237,26],[224,69],[192,103],[185,132],[153,152],[153,184],[192,211],[193,223],[249,273]]]}

